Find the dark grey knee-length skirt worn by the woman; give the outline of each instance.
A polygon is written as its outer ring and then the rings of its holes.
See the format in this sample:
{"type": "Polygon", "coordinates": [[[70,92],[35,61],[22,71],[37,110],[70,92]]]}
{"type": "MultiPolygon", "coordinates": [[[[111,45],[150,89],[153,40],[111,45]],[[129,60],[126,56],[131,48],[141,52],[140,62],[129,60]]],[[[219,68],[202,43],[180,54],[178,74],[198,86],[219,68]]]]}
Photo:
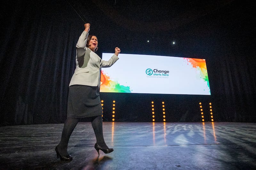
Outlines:
{"type": "Polygon", "coordinates": [[[102,115],[98,87],[86,85],[69,86],[67,117],[84,118],[102,115]]]}

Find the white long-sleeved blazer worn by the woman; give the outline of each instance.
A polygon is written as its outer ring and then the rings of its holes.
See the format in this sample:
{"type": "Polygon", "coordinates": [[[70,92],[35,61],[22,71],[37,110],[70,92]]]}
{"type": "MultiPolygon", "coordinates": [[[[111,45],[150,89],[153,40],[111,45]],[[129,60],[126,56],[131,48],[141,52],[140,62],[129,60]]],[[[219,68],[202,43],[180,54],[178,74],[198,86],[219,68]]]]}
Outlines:
{"type": "Polygon", "coordinates": [[[108,61],[101,60],[91,49],[86,47],[89,33],[83,31],[76,44],[76,70],[70,80],[71,85],[100,86],[100,70],[110,67],[119,58],[114,54],[108,61]]]}

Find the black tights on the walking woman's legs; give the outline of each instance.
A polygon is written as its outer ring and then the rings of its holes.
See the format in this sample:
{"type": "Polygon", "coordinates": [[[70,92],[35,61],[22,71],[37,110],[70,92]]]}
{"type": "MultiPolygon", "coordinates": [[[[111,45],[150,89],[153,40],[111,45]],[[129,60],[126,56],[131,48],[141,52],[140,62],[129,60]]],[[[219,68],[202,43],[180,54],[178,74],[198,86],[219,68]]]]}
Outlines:
{"type": "MultiPolygon", "coordinates": [[[[68,141],[71,136],[73,130],[75,129],[77,123],[79,122],[78,118],[70,118],[68,117],[64,123],[64,127],[61,134],[61,140],[58,144],[58,150],[60,155],[66,156],[68,154],[68,141]]],[[[94,130],[97,144],[99,144],[103,149],[108,149],[104,138],[103,138],[103,130],[102,130],[102,117],[101,115],[92,117],[92,128],[94,130]]]]}

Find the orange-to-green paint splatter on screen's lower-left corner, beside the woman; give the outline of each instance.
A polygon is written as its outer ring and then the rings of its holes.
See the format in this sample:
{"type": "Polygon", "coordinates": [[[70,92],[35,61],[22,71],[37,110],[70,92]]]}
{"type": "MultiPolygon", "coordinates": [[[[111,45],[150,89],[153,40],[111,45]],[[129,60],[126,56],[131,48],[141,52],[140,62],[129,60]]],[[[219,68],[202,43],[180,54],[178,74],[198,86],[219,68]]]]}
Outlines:
{"type": "Polygon", "coordinates": [[[100,92],[131,93],[131,89],[129,86],[110,80],[109,76],[101,70],[100,92]]]}

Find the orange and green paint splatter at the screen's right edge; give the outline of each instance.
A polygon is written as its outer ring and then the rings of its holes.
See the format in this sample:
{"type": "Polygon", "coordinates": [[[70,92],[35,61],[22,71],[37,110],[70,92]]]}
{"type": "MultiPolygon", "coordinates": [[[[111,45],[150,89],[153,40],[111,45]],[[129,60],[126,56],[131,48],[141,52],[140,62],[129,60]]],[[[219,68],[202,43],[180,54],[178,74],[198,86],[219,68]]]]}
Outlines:
{"type": "Polygon", "coordinates": [[[211,94],[205,59],[198,59],[198,58],[183,58],[183,59],[187,60],[188,65],[190,64],[193,68],[200,71],[200,78],[204,79],[204,81],[207,82],[208,90],[209,90],[209,93],[211,94]]]}

